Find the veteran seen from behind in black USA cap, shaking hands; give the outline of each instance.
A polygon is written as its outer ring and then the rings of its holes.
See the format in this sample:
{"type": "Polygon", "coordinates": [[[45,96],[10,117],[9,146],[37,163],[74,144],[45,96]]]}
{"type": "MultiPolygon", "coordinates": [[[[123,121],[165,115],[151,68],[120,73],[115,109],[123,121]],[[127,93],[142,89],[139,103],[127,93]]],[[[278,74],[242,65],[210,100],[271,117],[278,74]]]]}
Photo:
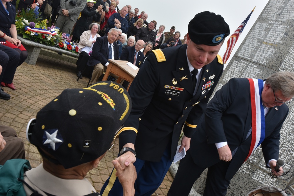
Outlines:
{"type": "MultiPolygon", "coordinates": [[[[130,96],[114,82],[64,90],[28,124],[27,138],[43,163],[25,172],[26,194],[99,195],[91,194],[96,190],[84,177],[98,166],[130,110],[130,96]]],[[[117,161],[113,164],[124,190],[134,193],[135,167],[123,170],[117,161]]]]}

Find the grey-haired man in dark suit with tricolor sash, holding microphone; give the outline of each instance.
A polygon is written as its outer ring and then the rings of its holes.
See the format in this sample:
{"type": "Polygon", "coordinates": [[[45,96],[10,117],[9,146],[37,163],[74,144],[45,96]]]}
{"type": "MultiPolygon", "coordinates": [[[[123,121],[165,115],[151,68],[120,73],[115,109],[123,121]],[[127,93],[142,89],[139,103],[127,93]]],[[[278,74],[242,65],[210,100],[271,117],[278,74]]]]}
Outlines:
{"type": "Polygon", "coordinates": [[[230,180],[261,144],[265,165],[276,176],[280,129],[294,96],[294,73],[276,72],[265,81],[233,78],[208,103],[168,192],[188,195],[208,167],[204,196],[223,196],[230,180]]]}

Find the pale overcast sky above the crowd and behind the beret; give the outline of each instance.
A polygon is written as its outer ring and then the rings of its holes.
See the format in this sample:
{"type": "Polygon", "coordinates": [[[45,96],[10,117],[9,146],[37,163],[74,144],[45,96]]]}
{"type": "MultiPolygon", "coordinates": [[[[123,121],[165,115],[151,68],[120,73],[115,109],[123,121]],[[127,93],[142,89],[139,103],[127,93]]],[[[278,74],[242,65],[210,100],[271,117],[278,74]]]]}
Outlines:
{"type": "MultiPolygon", "coordinates": [[[[157,27],[161,24],[166,26],[165,31],[169,31],[171,26],[175,26],[176,31],[181,32],[181,39],[183,39],[183,36],[188,32],[189,21],[199,12],[210,11],[220,14],[230,26],[230,33],[232,34],[256,6],[243,33],[235,45],[230,56],[231,58],[267,3],[268,0],[120,0],[118,8],[121,9],[125,5],[131,5],[132,9],[139,9],[139,14],[141,11],[145,11],[148,14],[147,22],[156,20],[157,27]]],[[[226,38],[225,41],[228,41],[228,38],[226,38]]],[[[220,56],[223,56],[225,50],[226,44],[223,44],[219,52],[220,56]]],[[[228,62],[226,65],[227,64],[228,62]]]]}

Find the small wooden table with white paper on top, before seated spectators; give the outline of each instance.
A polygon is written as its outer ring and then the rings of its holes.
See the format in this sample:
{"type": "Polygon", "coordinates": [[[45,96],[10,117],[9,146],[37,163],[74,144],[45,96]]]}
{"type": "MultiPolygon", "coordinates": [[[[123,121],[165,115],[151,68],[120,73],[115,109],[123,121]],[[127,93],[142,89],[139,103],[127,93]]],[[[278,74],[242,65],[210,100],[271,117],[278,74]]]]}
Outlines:
{"type": "Polygon", "coordinates": [[[128,61],[112,59],[108,59],[108,61],[109,64],[107,66],[104,77],[102,78],[102,81],[106,81],[109,76],[109,73],[113,73],[116,76],[118,76],[118,79],[116,81],[117,83],[120,83],[121,79],[124,79],[130,83],[127,88],[128,91],[129,87],[131,86],[131,83],[133,82],[134,78],[136,77],[139,71],[139,68],[134,70],[133,68],[127,65],[128,61]]]}

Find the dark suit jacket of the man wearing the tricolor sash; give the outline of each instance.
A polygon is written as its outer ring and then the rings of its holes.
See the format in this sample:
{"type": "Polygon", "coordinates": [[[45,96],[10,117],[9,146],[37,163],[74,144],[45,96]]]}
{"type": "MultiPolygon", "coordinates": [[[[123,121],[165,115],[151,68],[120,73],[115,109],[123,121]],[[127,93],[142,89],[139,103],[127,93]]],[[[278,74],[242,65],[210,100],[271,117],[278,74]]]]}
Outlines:
{"type": "MultiPolygon", "coordinates": [[[[266,164],[270,159],[278,159],[280,128],[288,112],[288,106],[283,104],[270,108],[265,115],[265,139],[261,146],[266,164]]],[[[233,78],[208,103],[191,138],[190,153],[194,162],[202,168],[218,163],[215,143],[227,141],[231,151],[238,147],[226,174],[226,178],[231,179],[248,155],[251,135],[247,139],[246,136],[251,123],[249,81],[233,78]]]]}

